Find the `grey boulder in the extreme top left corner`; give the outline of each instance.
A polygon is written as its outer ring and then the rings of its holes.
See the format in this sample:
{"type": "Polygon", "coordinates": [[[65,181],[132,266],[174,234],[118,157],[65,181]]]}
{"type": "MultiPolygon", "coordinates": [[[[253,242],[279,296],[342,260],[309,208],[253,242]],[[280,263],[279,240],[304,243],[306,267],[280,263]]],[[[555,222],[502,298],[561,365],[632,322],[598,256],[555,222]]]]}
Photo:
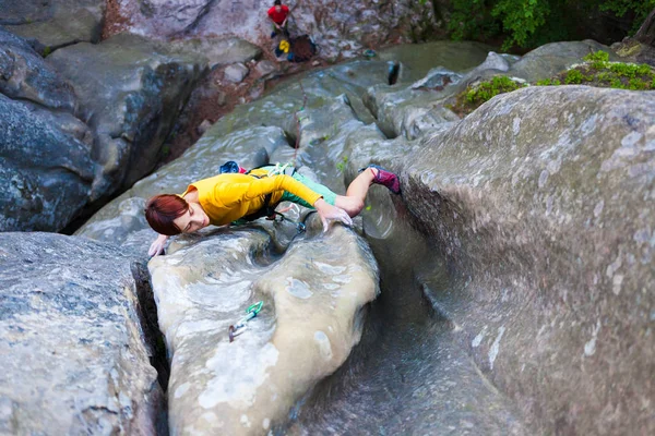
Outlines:
{"type": "Polygon", "coordinates": [[[104,0],[0,0],[0,24],[28,40],[41,55],[100,39],[104,0]]]}

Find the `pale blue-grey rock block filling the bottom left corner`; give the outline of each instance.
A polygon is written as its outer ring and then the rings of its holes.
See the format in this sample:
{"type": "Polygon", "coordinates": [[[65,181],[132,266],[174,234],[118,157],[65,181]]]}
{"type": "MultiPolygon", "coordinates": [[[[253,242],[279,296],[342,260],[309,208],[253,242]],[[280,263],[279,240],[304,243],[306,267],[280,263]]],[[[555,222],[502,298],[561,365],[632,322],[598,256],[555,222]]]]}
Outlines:
{"type": "Polygon", "coordinates": [[[156,434],[130,262],[81,238],[0,234],[0,433],[156,434]]]}

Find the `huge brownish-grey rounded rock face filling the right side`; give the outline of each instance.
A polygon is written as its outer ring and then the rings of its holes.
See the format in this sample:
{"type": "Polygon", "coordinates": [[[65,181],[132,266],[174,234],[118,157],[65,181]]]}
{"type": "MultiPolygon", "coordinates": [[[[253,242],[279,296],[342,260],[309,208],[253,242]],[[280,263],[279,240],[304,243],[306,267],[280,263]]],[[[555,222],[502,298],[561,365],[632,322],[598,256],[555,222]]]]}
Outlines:
{"type": "Polygon", "coordinates": [[[521,89],[405,160],[407,206],[458,272],[433,298],[536,428],[655,429],[654,100],[521,89]]]}

